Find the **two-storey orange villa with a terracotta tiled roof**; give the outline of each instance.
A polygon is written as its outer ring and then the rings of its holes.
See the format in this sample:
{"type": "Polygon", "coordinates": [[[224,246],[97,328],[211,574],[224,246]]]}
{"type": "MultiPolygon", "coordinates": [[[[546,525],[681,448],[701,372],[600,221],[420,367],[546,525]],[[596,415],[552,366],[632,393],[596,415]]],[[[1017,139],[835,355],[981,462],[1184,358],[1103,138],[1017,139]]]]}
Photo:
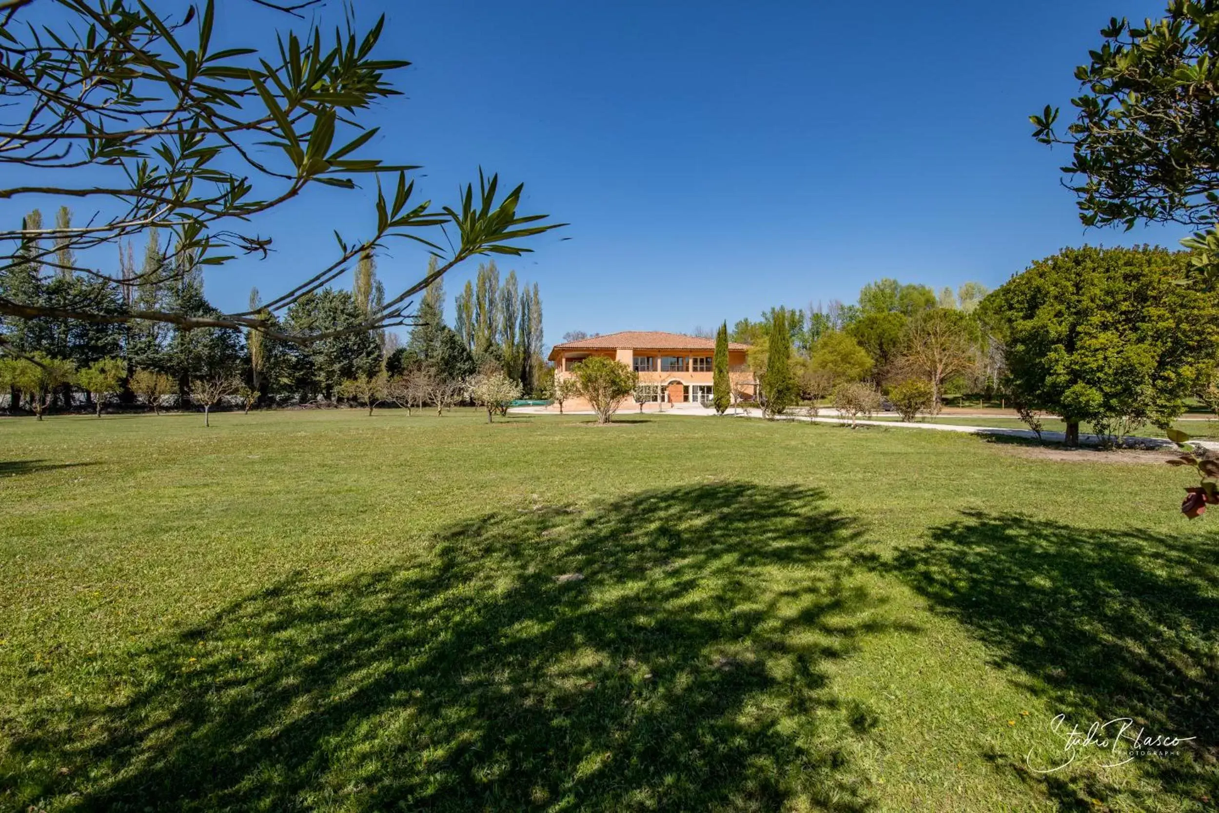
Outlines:
{"type": "MultiPolygon", "coordinates": [[[[756,383],[745,361],[748,349],[748,345],[735,341],[728,345],[734,397],[753,397],[756,383]]],[[[572,371],[585,358],[608,356],[639,373],[640,384],[646,385],[650,392],[644,403],[708,403],[712,397],[714,352],[713,339],[681,333],[623,330],[555,345],[550,351],[550,360],[555,362],[555,377],[563,379],[570,377],[572,371]]],[[[639,406],[635,400],[629,403],[639,406]]],[[[580,400],[570,402],[570,408],[581,406],[588,405],[580,400]]]]}

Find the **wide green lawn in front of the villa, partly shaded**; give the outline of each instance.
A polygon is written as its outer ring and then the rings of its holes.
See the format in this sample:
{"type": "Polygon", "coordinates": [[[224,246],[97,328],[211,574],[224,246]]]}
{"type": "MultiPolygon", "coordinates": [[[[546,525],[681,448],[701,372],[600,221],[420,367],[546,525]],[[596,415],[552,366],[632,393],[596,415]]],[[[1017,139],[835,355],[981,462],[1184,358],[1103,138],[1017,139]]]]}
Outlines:
{"type": "Polygon", "coordinates": [[[1214,809],[1180,470],[588,422],[0,421],[0,809],[1214,809]]]}

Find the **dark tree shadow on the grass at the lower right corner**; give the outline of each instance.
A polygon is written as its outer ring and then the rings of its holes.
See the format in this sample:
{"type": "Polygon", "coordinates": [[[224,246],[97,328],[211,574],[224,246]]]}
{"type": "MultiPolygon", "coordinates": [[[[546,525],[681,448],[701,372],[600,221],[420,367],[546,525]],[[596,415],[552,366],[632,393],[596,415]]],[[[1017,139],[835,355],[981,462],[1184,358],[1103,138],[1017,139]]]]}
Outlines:
{"type": "MultiPolygon", "coordinates": [[[[1130,717],[1147,735],[1197,737],[1175,756],[1137,758],[1153,785],[1142,789],[1109,781],[1113,774],[1103,768],[1037,774],[1025,754],[996,754],[1000,764],[1041,784],[1068,808],[1096,809],[1092,800],[1124,795],[1132,809],[1160,809],[1157,791],[1176,795],[1186,807],[1219,798],[1213,538],[970,512],[933,529],[929,542],[886,567],[972,629],[1002,664],[1026,675],[1029,690],[1065,714],[1068,726],[1086,730],[1093,722],[1130,717]]],[[[1062,741],[1048,725],[1046,739],[1061,756],[1062,741]]]]}

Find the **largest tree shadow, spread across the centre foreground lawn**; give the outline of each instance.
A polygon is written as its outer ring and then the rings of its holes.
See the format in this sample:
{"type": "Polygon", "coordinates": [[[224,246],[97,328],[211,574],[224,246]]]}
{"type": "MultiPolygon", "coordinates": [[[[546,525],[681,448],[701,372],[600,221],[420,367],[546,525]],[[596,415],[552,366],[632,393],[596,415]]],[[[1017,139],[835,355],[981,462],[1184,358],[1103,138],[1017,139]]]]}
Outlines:
{"type": "Polygon", "coordinates": [[[236,601],[13,747],[91,809],[865,809],[819,722],[850,712],[825,664],[887,628],[857,534],[795,486],[522,505],[236,601]]]}

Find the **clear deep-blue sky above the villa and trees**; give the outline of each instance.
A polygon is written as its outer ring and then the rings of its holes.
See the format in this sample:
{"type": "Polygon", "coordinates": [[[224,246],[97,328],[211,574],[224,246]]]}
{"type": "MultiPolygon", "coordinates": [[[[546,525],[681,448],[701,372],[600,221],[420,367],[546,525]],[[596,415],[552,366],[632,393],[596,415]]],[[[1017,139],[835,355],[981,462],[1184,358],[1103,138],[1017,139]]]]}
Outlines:
{"type": "MultiPolygon", "coordinates": [[[[570,223],[500,261],[540,284],[547,343],[853,301],[879,277],[995,286],[1067,245],[1184,236],[1085,232],[1068,154],[1028,123],[1075,93],[1109,16],[1163,0],[356,5],[384,11],[382,52],[414,63],[369,117],[372,151],[424,165],[438,202],[482,165],[570,223]]],[[[226,43],[282,22],[221,7],[226,43]]],[[[207,294],[236,308],[251,283],[286,288],[333,256],[332,228],[357,236],[371,216],[366,193],[293,201],[260,223],[273,257],[208,272],[207,294]]],[[[379,273],[393,290],[423,263],[402,247],[379,273]]],[[[446,280],[450,318],[475,264],[446,280]]]]}

